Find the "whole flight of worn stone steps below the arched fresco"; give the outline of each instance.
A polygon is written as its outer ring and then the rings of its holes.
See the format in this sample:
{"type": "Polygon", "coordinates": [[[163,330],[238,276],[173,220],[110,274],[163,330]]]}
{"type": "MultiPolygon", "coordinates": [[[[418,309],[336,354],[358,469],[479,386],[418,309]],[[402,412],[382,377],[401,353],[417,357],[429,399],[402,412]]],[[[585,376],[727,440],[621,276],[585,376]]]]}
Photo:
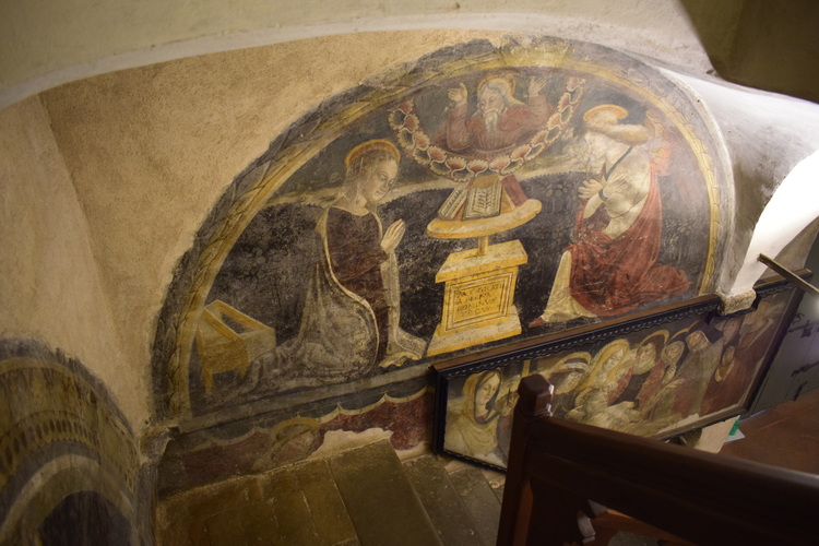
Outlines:
{"type": "Polygon", "coordinates": [[[483,546],[500,503],[472,467],[424,454],[402,464],[383,440],[165,499],[157,542],[222,546],[483,546]]]}

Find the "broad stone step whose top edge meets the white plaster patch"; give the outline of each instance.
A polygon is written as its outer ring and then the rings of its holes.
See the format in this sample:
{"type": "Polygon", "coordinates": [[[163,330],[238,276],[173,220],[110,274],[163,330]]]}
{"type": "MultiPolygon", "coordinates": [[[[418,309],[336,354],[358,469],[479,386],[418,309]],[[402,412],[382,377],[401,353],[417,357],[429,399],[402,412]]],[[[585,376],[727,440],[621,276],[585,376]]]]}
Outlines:
{"type": "Polygon", "coordinates": [[[441,541],[388,441],[328,460],[363,546],[426,546],[441,541]]]}

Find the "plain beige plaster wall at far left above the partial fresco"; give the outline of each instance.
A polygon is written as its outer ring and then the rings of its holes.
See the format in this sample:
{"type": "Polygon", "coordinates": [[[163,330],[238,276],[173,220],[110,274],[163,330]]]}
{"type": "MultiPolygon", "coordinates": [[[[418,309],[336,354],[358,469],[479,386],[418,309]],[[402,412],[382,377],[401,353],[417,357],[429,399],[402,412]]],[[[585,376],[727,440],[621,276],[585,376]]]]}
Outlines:
{"type": "Polygon", "coordinates": [[[143,371],[120,351],[88,226],[38,98],[0,110],[0,335],[80,359],[128,418],[147,417],[143,371]]]}

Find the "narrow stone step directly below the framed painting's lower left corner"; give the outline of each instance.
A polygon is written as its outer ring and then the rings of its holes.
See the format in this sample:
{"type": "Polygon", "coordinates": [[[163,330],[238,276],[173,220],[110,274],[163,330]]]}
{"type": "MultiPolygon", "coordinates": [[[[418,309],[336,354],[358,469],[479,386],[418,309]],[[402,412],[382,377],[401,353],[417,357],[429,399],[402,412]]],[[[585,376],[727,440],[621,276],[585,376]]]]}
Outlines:
{"type": "MultiPolygon", "coordinates": [[[[489,545],[476,531],[477,525],[464,499],[458,494],[439,458],[424,455],[412,459],[404,462],[404,468],[446,546],[489,545]]],[[[484,483],[488,488],[486,479],[484,483]]]]}

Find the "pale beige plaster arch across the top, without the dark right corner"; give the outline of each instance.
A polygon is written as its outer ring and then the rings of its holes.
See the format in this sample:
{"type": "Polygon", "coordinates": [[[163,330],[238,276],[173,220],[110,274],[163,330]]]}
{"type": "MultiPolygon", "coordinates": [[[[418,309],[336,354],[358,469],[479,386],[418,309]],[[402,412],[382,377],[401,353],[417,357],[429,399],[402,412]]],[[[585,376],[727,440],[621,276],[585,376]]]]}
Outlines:
{"type": "MultiPolygon", "coordinates": [[[[689,10],[679,0],[5,1],[0,2],[0,106],[112,70],[361,31],[542,33],[703,73],[710,63],[689,10]]],[[[738,10],[720,14],[736,17],[738,10]]]]}

